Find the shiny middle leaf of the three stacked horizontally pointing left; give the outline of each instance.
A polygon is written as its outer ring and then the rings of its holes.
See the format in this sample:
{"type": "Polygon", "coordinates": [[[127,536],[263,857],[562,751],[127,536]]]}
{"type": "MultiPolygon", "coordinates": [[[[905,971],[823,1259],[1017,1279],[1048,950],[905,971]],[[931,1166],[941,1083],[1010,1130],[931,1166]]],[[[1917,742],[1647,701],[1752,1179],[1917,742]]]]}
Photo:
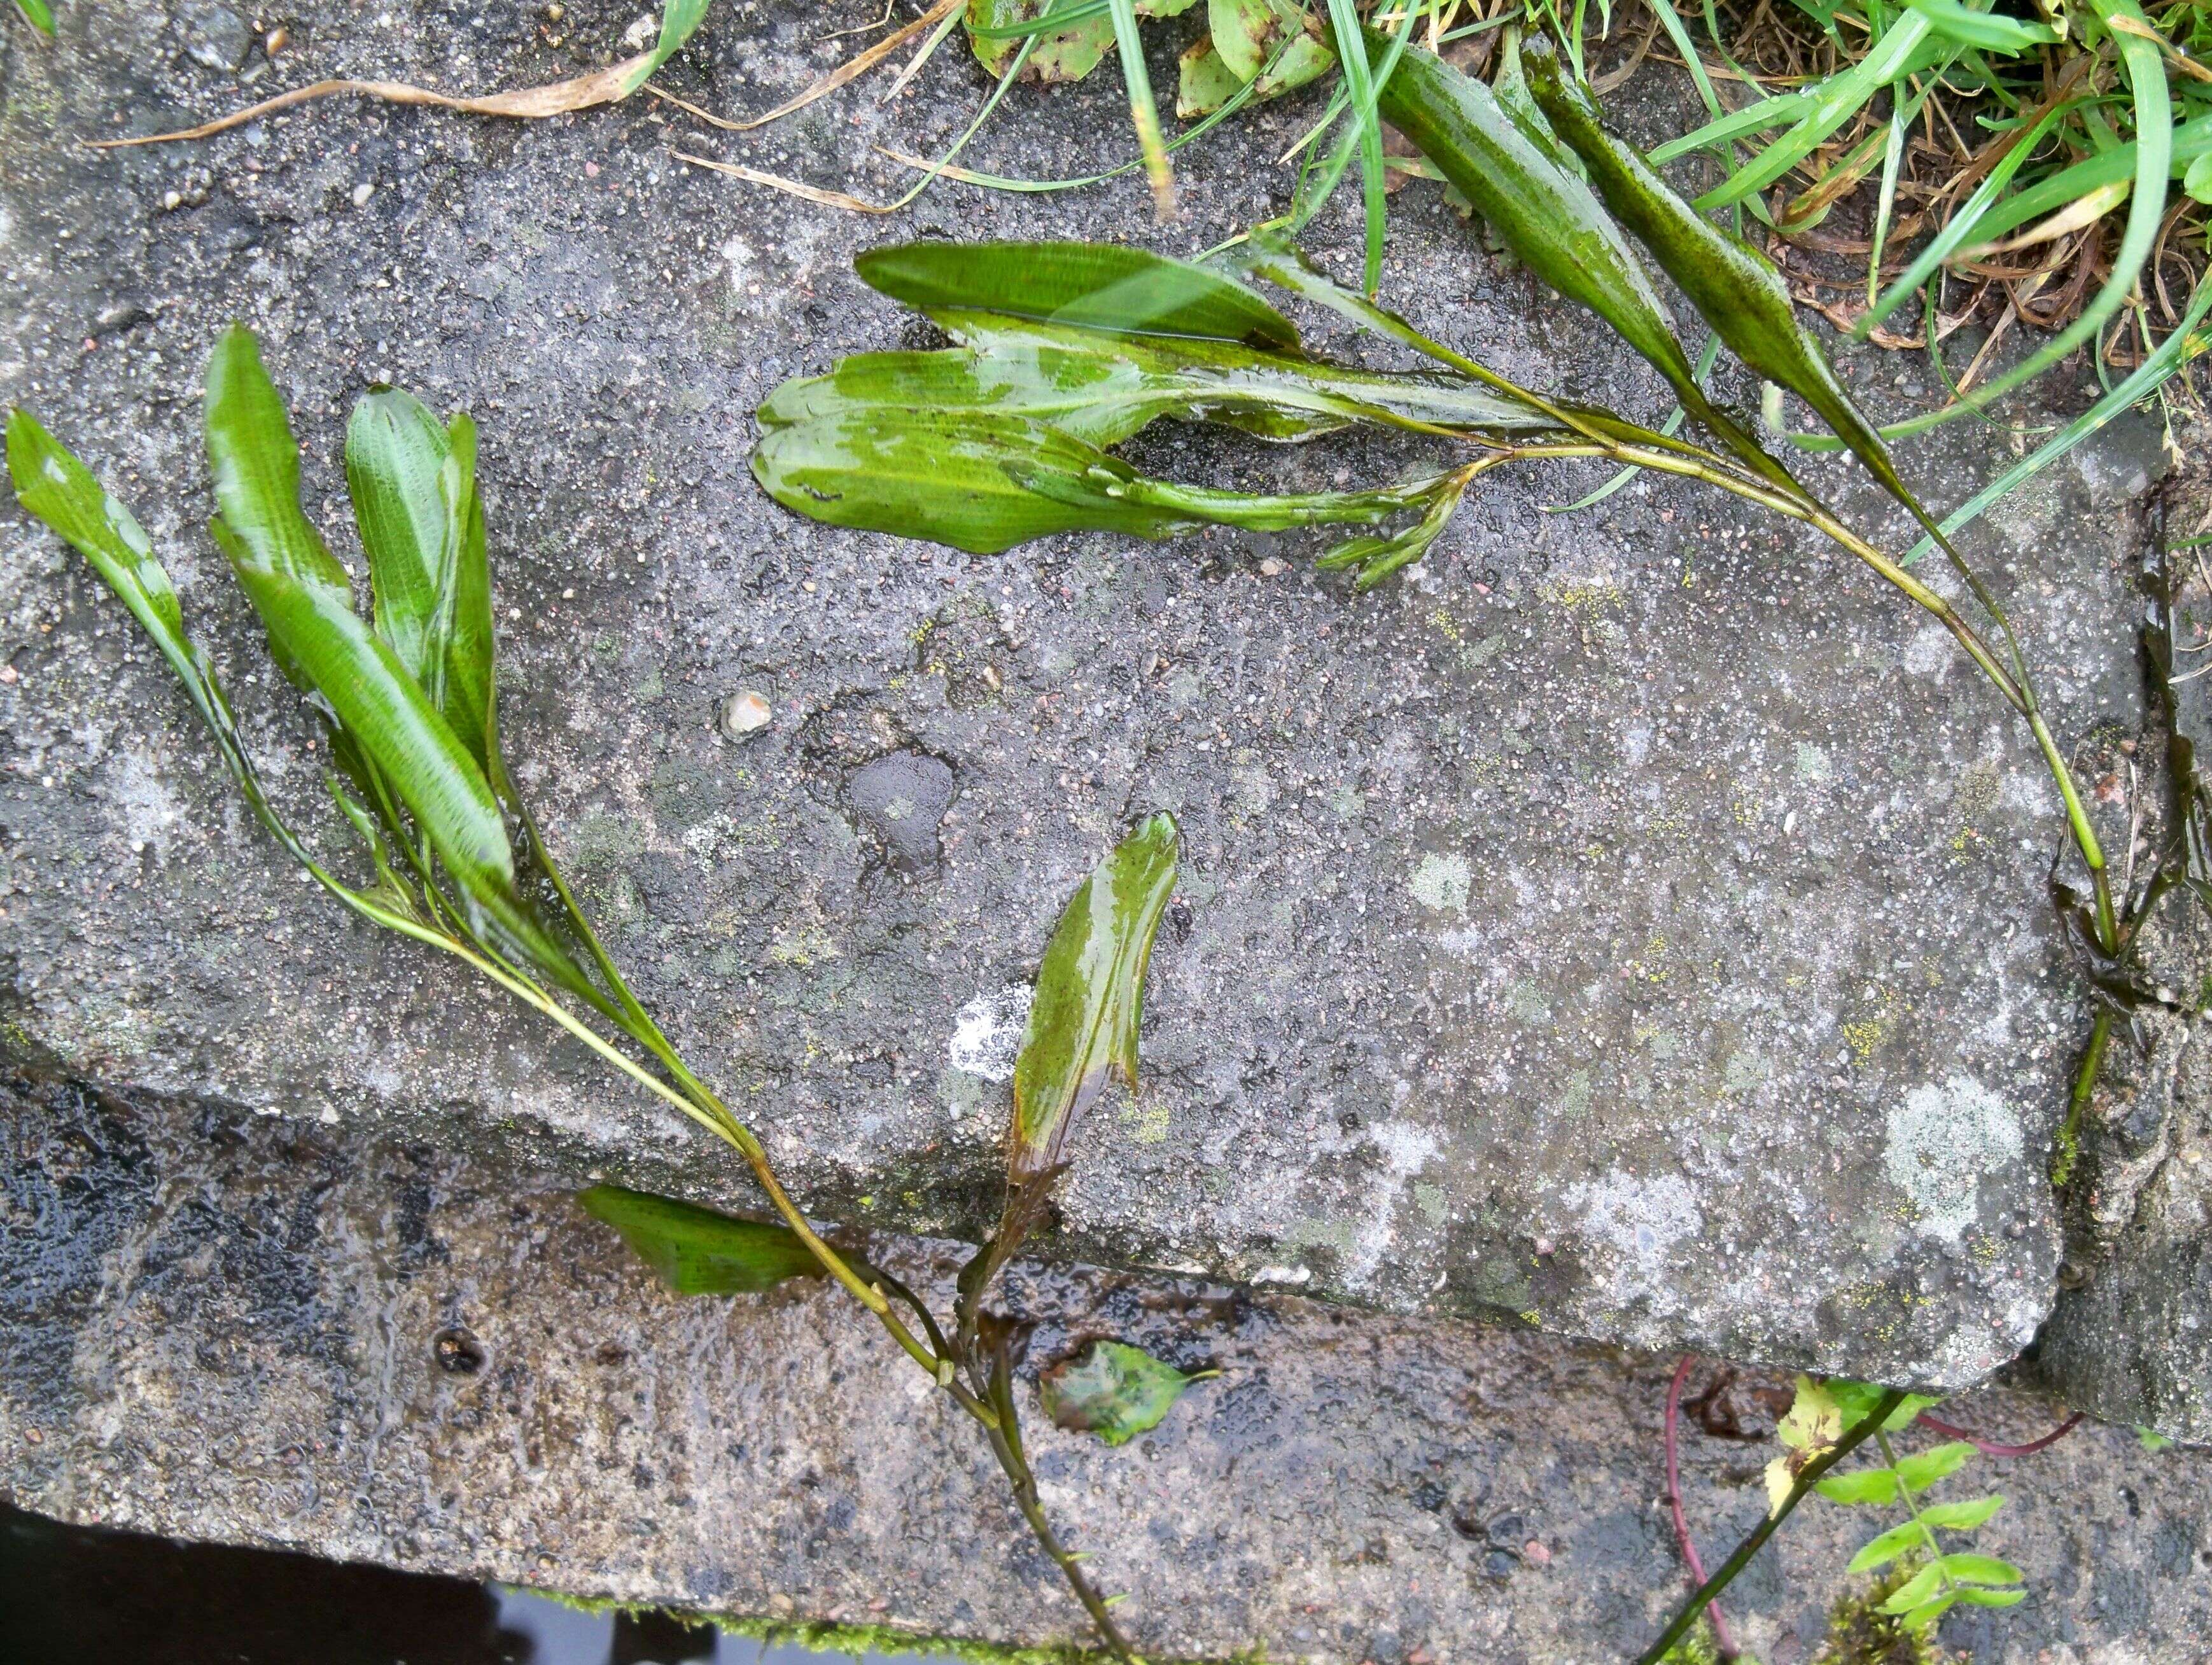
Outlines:
{"type": "Polygon", "coordinates": [[[1234,341],[1099,336],[989,312],[940,312],[973,352],[858,354],[827,376],[783,383],[761,427],[845,409],[1024,416],[1113,447],[1172,416],[1267,440],[1310,440],[1356,422],[1449,433],[1553,431],[1548,418],[1464,376],[1376,371],[1234,341]]]}

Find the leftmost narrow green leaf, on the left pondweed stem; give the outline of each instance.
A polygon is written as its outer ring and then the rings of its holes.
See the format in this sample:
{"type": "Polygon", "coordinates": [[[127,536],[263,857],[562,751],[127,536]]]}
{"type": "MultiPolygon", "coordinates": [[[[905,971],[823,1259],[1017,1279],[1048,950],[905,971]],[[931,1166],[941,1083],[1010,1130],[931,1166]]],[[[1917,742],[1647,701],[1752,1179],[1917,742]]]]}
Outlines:
{"type": "Polygon", "coordinates": [[[307,862],[305,847],[276,818],[261,789],[261,776],[246,756],[237,716],[232,716],[230,701],[215,679],[208,650],[186,635],[177,590],[161,562],[155,559],[153,542],[137,517],[111,498],[69,447],[55,440],[29,411],[9,411],[7,464],[9,478],[15,482],[15,500],[91,562],[93,570],[131,608],[153,646],[161,650],[261,825],[292,856],[307,862]]]}

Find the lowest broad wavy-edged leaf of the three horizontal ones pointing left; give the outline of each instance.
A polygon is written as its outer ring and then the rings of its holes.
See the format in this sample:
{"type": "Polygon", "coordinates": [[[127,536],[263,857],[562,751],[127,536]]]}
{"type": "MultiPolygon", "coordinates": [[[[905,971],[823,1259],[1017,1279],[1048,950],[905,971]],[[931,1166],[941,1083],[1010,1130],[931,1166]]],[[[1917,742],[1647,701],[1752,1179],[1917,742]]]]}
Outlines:
{"type": "Polygon", "coordinates": [[[752,475],[794,513],[995,555],[1073,531],[1175,537],[1197,526],[1376,524],[1436,480],[1378,491],[1254,495],[1155,480],[1015,416],[841,409],[768,429],[752,475]]]}

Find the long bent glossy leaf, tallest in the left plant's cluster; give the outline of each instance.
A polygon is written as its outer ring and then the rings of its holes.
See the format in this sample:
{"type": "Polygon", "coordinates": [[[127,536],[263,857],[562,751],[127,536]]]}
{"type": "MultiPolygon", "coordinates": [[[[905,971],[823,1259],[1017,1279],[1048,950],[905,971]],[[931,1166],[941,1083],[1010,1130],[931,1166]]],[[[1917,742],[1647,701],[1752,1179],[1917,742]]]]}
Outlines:
{"type": "Polygon", "coordinates": [[[319,694],[389,781],[465,902],[535,942],[515,896],[513,851],[482,767],[429,703],[354,597],[299,506],[299,447],[252,334],[232,327],[208,360],[215,540],[261,615],[285,672],[319,694]]]}

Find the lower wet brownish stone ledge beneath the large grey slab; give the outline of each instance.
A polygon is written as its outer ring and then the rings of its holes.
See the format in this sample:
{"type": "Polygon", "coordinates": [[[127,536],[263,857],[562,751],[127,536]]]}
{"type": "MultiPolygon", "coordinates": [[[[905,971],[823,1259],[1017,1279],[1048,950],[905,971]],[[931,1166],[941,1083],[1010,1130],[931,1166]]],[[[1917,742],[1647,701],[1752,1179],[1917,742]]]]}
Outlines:
{"type": "MultiPolygon", "coordinates": [[[[1084,1638],[982,1444],[841,1296],[675,1300],[546,1176],[64,1090],[0,1097],[0,1495],[24,1508],[624,1601],[1084,1638]]],[[[949,1300],[953,1245],[876,1247],[949,1300]]],[[[1155,1658],[1615,1665],[1681,1594],[1672,1360],[1088,1269],[1018,1267],[1011,1300],[1037,1324],[1020,1404],[1044,1499],[1155,1658]],[[1035,1371],[1093,1336],[1223,1375],[1108,1451],[1035,1404],[1035,1371]]],[[[1761,1395],[1783,1384],[1750,1373],[1683,1417],[1708,1559],[1761,1515],[1761,1395]],[[1730,1415],[1747,1439],[1705,1433],[1730,1415]]],[[[1984,1389],[1949,1415],[2026,1439],[2057,1411],[1984,1389]]],[[[1975,1665],[2197,1665],[2208,1481],[2212,1455],[2104,1426],[1975,1464],[1958,1486],[2011,1497],[1980,1543],[2033,1594],[1953,1614],[1944,1641],[1975,1665]]],[[[1759,1658],[1816,1656],[1885,1523],[1818,1501],[1790,1521],[1730,1601],[1759,1658]]]]}

